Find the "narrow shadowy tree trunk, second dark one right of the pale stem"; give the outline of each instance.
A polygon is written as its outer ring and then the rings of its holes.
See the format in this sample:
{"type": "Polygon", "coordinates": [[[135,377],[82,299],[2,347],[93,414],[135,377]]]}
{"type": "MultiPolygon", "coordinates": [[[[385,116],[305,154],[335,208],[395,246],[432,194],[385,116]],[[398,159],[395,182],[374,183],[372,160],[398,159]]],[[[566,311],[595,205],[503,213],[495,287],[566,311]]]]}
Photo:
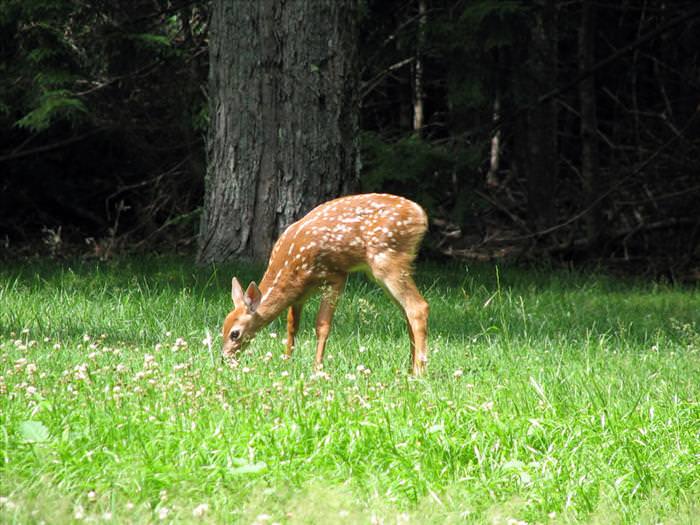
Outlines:
{"type": "MultiPolygon", "coordinates": [[[[581,26],[578,34],[579,70],[588,71],[595,63],[595,21],[593,6],[583,2],[581,26]]],[[[598,117],[595,100],[595,75],[590,75],[579,84],[581,99],[581,177],[584,185],[587,245],[593,247],[600,237],[600,174],[598,155],[598,117]]]]}

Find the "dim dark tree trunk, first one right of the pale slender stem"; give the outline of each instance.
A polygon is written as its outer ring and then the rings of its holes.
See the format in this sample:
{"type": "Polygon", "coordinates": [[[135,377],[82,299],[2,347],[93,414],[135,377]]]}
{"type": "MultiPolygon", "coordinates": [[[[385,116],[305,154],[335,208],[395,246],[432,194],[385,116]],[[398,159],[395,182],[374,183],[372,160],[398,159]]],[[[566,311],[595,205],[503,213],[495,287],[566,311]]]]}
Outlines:
{"type": "MultiPolygon", "coordinates": [[[[557,85],[557,7],[554,0],[538,2],[532,29],[533,93],[536,100],[557,85]]],[[[558,179],[557,102],[552,98],[528,115],[528,220],[535,230],[551,225],[558,179]]]]}

